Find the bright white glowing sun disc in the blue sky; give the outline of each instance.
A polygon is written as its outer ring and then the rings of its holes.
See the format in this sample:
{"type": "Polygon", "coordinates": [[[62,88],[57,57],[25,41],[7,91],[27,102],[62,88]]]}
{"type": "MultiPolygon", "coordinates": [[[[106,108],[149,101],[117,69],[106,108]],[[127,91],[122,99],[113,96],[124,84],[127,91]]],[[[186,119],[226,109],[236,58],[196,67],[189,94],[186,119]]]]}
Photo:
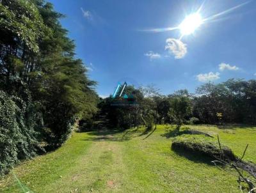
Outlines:
{"type": "Polygon", "coordinates": [[[203,20],[199,13],[192,13],[188,15],[179,25],[180,33],[182,35],[189,35],[195,31],[202,24],[203,20]]]}

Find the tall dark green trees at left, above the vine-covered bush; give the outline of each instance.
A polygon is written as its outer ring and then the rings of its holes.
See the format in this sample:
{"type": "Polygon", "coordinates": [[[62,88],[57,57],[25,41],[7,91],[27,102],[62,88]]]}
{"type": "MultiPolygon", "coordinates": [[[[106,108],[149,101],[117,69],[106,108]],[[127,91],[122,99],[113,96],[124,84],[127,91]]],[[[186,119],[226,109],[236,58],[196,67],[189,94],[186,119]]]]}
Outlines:
{"type": "Polygon", "coordinates": [[[74,57],[74,41],[59,21],[63,15],[51,3],[3,0],[0,12],[0,89],[25,101],[29,93],[44,116],[41,136],[58,147],[75,119],[97,111],[96,82],[74,57]]]}

